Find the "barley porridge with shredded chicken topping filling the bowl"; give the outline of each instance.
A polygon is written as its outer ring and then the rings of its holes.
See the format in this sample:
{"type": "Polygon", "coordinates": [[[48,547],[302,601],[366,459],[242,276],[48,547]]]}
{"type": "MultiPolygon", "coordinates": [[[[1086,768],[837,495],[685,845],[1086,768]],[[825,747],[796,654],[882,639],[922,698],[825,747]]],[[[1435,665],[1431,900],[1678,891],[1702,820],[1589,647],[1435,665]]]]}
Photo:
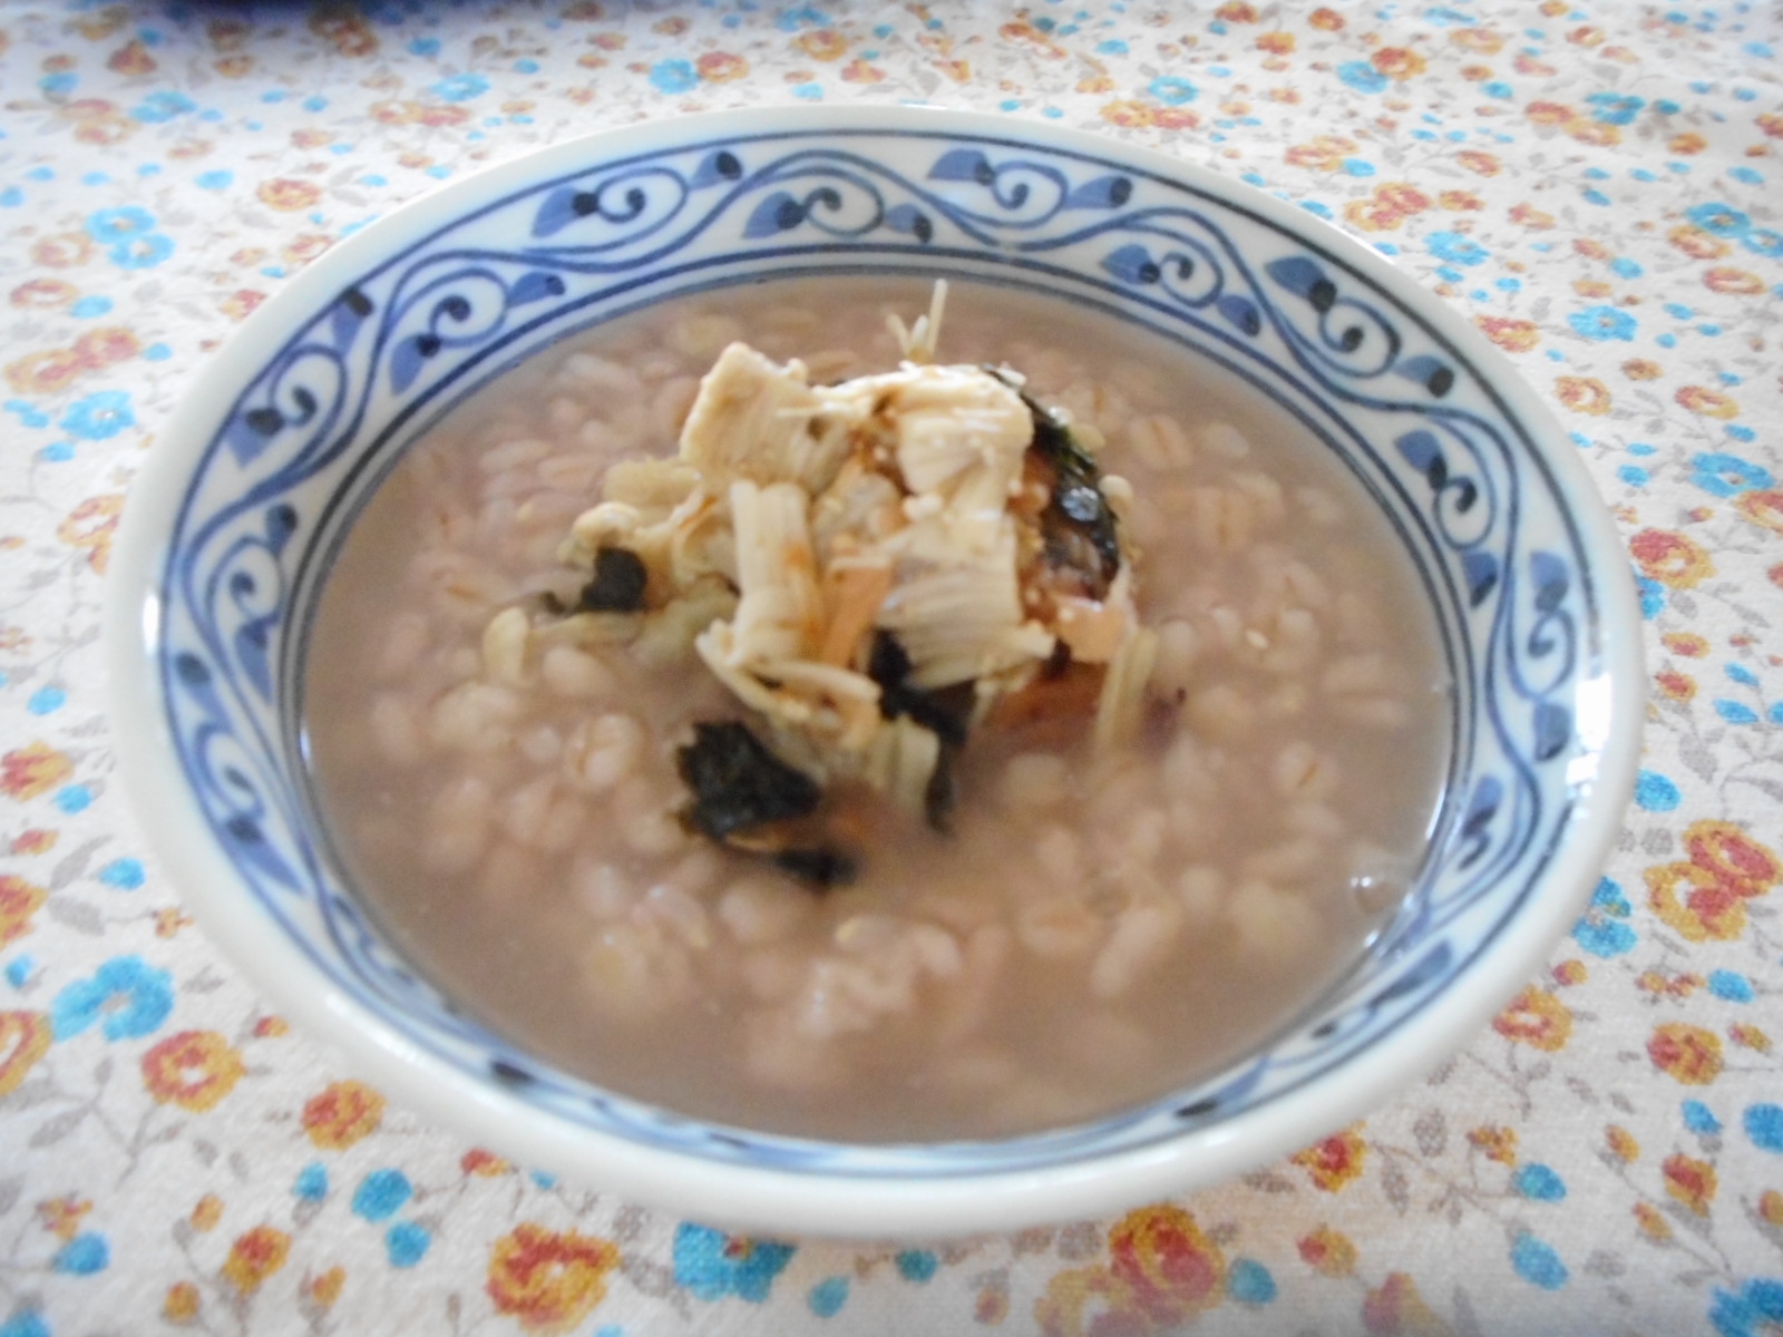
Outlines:
{"type": "Polygon", "coordinates": [[[330,831],[567,1071],[849,1141],[1077,1123],[1284,1027],[1416,872],[1448,685],[1355,481],[1155,337],[975,285],[888,328],[927,305],[601,326],[342,549],[330,831]]]}

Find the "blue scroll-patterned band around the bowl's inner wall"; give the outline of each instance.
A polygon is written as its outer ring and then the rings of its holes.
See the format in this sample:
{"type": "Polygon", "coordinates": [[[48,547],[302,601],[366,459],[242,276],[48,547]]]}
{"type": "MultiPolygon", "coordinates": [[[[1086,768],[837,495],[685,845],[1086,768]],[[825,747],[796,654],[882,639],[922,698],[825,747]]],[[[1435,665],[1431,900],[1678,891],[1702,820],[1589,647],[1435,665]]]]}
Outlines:
{"type": "MultiPolygon", "coordinates": [[[[264,907],[346,993],[428,1050],[560,1116],[720,1161],[858,1173],[982,1168],[984,1148],[849,1152],[717,1130],[597,1091],[458,1016],[378,938],[312,834],[292,726],[296,633],[360,462],[481,367],[656,299],[699,273],[797,255],[836,269],[1000,266],[1041,292],[1093,291],[1216,349],[1261,383],[1389,415],[1373,462],[1444,603],[1480,736],[1464,738],[1441,843],[1380,970],[1316,1027],[1152,1109],[995,1148],[1016,1168],[1143,1144],[1330,1071],[1467,964],[1462,929],[1555,840],[1590,610],[1574,551],[1530,551],[1541,501],[1519,428],[1423,323],[1341,260],[1120,162],[925,134],[736,139],[613,162],[497,200],[390,257],[250,381],[193,483],[164,574],[160,672],[187,781],[264,907]],[[1241,235],[1243,234],[1243,235],[1241,235]],[[925,260],[927,257],[927,260],[925,260]],[[1257,257],[1268,257],[1259,262],[1257,257]],[[895,262],[895,264],[893,264],[895,262]],[[319,927],[314,927],[319,925],[319,927]]],[[[703,282],[703,280],[701,280],[703,282]]],[[[1466,704],[1466,702],[1464,702],[1466,704]]]]}

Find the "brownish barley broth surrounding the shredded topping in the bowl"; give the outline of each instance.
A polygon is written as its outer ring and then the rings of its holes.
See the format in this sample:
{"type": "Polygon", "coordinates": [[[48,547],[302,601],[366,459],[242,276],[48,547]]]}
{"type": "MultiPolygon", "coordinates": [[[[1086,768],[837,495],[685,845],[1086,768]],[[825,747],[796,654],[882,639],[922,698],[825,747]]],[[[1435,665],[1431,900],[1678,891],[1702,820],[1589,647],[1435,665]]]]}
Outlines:
{"type": "Polygon", "coordinates": [[[1450,699],[1378,508],[1193,355],[993,287],[954,287],[938,360],[1022,373],[1130,485],[1104,485],[1155,631],[1130,743],[975,727],[945,831],[881,804],[854,881],[815,886],[683,820],[678,749],[745,715],[699,626],[544,633],[490,672],[492,619],[574,603],[572,522],[612,465],[676,453],[729,342],[829,383],[895,369],[886,316],[927,303],[779,282],[553,348],[403,458],[328,578],[307,729],[349,877],[449,997],[571,1073],[829,1139],[1070,1125],[1287,1025],[1416,872],[1450,699]]]}

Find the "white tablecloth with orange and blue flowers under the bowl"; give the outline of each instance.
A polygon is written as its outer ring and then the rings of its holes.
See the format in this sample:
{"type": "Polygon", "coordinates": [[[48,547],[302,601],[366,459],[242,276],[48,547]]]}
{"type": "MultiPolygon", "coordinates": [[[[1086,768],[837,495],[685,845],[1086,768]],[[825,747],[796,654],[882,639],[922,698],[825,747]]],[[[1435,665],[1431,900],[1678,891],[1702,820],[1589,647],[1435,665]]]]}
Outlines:
{"type": "Polygon", "coordinates": [[[1778,1332],[1779,53],[1735,0],[0,0],[0,1337],[1778,1332]],[[553,1180],[292,1034],[114,783],[112,531],[235,324],[437,180],[793,100],[1298,201],[1476,321],[1621,524],[1647,751],[1589,913],[1460,1057],[1241,1182],[861,1250],[553,1180]]]}

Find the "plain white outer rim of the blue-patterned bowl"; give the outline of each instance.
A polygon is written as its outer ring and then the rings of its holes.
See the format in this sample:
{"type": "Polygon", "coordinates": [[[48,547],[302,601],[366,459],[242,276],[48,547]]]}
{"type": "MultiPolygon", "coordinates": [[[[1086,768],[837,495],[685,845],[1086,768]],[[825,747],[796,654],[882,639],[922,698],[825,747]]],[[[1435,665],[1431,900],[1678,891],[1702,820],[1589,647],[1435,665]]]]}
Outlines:
{"type": "Polygon", "coordinates": [[[353,1071],[399,1102],[460,1134],[499,1146],[517,1161],[560,1169],[592,1187],[703,1221],[854,1239],[979,1234],[1091,1218],[1205,1187],[1305,1146],[1366,1114],[1453,1054],[1532,980],[1583,907],[1633,793],[1644,718],[1642,622],[1633,576],[1608,510],[1548,405],[1471,321],[1362,241],[1196,162],[1084,130],[911,103],[786,105],[603,128],[524,152],[407,201],[294,275],[201,367],[157,437],[155,453],[132,480],[123,510],[105,592],[103,660],[130,809],[182,902],[242,970],[250,988],[276,1002],[310,1038],[332,1041],[353,1071]],[[159,676],[144,672],[144,663],[159,644],[159,581],[171,521],[191,469],[225,421],[235,390],[264,364],[283,332],[312,317],[380,257],[464,217],[476,201],[565,175],[578,162],[667,152],[708,135],[874,128],[1027,139],[1048,150],[1122,157],[1136,169],[1184,182],[1250,210],[1266,225],[1314,237],[1334,258],[1362,271],[1475,364],[1482,381],[1528,430],[1553,490],[1578,526],[1580,553],[1590,560],[1601,590],[1601,663],[1608,701],[1598,720],[1596,774],[1578,786],[1578,802],[1557,836],[1553,861],[1537,877],[1523,907],[1442,991],[1439,1007],[1405,1018],[1391,1038],[1314,1077],[1291,1098],[1139,1148],[1091,1153],[1048,1168],[913,1180],[720,1164],[645,1146],[571,1125],[517,1100],[494,1082],[426,1052],[373,1011],[319,980],[316,968],[271,916],[242,893],[239,875],[218,849],[185,786],[169,779],[169,768],[178,774],[177,749],[162,710],[159,676]]]}

